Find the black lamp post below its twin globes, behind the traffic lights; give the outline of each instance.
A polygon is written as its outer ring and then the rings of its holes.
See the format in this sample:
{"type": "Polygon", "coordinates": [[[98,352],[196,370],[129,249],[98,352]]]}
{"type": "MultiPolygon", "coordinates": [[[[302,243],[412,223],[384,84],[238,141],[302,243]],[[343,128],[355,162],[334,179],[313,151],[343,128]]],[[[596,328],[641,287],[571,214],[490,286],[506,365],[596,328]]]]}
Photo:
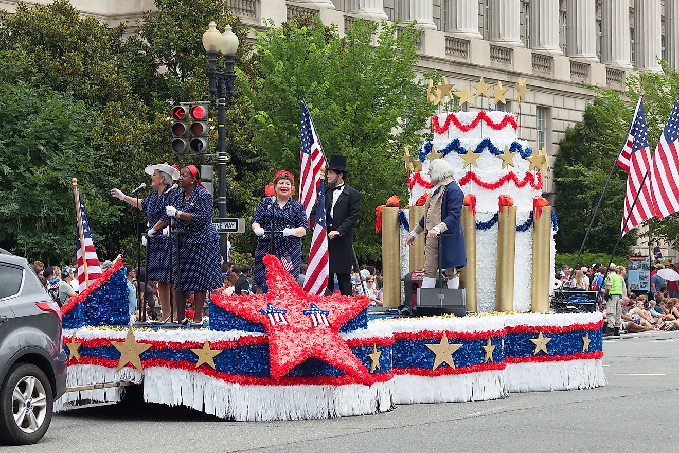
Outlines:
{"type": "MultiPolygon", "coordinates": [[[[234,103],[234,55],[226,55],[226,71],[217,71],[217,54],[208,53],[210,102],[217,101],[217,212],[221,219],[226,214],[226,105],[234,103]]],[[[219,250],[223,257],[226,253],[226,235],[219,235],[219,250]]]]}

